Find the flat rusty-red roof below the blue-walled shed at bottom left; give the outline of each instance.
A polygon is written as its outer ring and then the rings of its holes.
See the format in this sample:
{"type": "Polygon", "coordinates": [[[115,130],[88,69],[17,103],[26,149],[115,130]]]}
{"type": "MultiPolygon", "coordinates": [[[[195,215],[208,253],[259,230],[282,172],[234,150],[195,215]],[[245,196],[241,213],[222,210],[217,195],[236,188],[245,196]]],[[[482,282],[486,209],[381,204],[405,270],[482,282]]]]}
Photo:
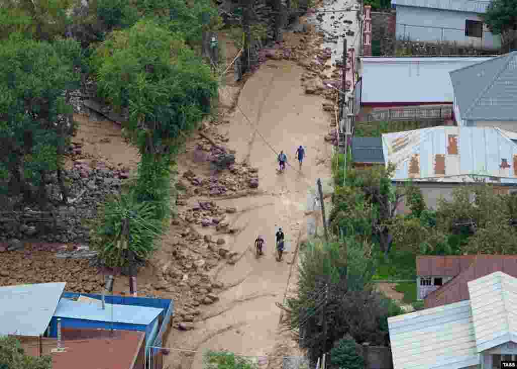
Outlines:
{"type": "MultiPolygon", "coordinates": [[[[54,338],[42,338],[43,355],[51,355],[52,369],[133,369],[145,332],[94,329],[62,329],[64,352],[52,353],[54,338]]],[[[37,337],[21,338],[28,355],[39,356],[37,337]]]]}

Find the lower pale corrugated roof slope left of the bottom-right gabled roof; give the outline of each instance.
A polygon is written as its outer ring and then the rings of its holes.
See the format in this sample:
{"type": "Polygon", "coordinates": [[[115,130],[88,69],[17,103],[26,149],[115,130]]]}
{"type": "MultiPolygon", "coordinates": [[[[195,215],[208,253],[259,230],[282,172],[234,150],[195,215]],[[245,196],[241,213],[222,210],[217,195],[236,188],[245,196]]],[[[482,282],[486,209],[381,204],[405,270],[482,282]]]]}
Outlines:
{"type": "Polygon", "coordinates": [[[459,369],[478,363],[470,303],[388,318],[394,369],[459,369]]]}

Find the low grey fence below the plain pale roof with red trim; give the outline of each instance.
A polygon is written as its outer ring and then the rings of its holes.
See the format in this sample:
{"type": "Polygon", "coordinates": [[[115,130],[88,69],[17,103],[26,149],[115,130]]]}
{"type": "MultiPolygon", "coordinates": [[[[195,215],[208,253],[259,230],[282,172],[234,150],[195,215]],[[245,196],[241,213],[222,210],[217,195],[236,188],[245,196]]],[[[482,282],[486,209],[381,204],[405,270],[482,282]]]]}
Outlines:
{"type": "Polygon", "coordinates": [[[410,121],[410,120],[452,119],[452,107],[443,108],[400,108],[373,111],[367,115],[367,122],[410,121]]]}

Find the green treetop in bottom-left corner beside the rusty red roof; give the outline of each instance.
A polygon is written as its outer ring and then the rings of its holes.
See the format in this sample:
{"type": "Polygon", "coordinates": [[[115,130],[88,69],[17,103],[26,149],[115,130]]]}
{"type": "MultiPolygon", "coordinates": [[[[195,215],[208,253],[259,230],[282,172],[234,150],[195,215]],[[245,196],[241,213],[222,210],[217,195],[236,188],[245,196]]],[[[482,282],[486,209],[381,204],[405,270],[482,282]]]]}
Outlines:
{"type": "Polygon", "coordinates": [[[15,337],[3,336],[0,337],[0,368],[52,369],[52,357],[29,356],[15,337]]]}

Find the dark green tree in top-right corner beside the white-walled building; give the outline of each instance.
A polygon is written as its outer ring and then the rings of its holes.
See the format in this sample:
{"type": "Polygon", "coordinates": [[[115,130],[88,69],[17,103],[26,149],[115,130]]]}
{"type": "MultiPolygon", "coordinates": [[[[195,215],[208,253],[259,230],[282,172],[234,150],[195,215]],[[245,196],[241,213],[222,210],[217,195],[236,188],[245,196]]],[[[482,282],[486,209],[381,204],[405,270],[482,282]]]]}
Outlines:
{"type": "Polygon", "coordinates": [[[493,0],[482,17],[490,32],[501,35],[503,45],[515,39],[517,33],[516,0],[493,0]]]}

